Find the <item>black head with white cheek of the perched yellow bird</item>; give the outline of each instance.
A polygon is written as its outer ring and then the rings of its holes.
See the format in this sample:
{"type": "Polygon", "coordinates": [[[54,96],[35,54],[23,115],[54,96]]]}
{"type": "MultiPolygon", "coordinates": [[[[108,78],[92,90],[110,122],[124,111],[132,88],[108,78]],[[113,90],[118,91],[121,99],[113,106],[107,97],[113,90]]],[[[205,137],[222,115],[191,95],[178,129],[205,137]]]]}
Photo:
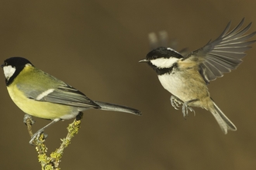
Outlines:
{"type": "Polygon", "coordinates": [[[32,63],[29,62],[28,59],[15,56],[9,59],[5,59],[4,63],[1,67],[4,70],[5,74],[5,83],[8,86],[12,81],[19,75],[19,73],[23,70],[23,68],[27,65],[33,66],[32,63]]]}

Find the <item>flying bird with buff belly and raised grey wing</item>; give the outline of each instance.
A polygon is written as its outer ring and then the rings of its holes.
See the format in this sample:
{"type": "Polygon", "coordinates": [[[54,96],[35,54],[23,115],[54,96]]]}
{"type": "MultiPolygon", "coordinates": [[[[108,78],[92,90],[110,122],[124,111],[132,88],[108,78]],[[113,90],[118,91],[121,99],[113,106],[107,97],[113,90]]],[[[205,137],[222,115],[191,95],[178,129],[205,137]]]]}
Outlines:
{"type": "Polygon", "coordinates": [[[223,73],[237,69],[246,56],[244,52],[256,41],[248,40],[256,32],[246,34],[252,22],[241,29],[244,24],[242,19],[231,31],[230,24],[228,22],[218,38],[187,55],[159,46],[139,61],[147,63],[157,73],[162,87],[171,93],[171,106],[178,110],[182,105],[183,117],[188,116],[189,111],[195,114],[192,107],[202,107],[213,114],[224,134],[237,131],[237,127],[210,97],[207,85],[223,73]]]}

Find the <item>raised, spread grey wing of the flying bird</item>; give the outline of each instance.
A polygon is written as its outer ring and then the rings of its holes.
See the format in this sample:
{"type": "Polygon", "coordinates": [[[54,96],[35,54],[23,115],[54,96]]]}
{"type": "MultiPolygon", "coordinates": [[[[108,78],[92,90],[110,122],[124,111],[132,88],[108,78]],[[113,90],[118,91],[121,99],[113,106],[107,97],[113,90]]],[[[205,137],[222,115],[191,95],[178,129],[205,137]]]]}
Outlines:
{"type": "Polygon", "coordinates": [[[213,42],[208,42],[206,46],[185,57],[185,59],[195,57],[201,61],[199,65],[200,73],[206,83],[223,76],[223,73],[235,70],[242,63],[242,58],[246,55],[244,52],[250,49],[250,45],[256,41],[247,41],[256,32],[244,35],[251,28],[251,23],[244,29],[240,29],[243,23],[244,19],[233,30],[228,32],[230,29],[229,22],[226,29],[217,39],[213,42]]]}

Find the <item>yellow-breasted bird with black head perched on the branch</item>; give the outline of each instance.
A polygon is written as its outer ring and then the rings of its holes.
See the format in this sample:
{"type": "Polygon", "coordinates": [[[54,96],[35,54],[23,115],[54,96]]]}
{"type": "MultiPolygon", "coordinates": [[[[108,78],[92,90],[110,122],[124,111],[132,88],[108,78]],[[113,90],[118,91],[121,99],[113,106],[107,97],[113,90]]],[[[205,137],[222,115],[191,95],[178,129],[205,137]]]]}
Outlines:
{"type": "Polygon", "coordinates": [[[23,57],[5,59],[1,67],[9,96],[25,113],[25,117],[52,120],[50,124],[33,134],[29,141],[31,145],[40,134],[43,134],[45,128],[57,121],[79,117],[83,110],[99,109],[141,115],[140,110],[131,107],[91,100],[64,81],[36,68],[23,57]]]}

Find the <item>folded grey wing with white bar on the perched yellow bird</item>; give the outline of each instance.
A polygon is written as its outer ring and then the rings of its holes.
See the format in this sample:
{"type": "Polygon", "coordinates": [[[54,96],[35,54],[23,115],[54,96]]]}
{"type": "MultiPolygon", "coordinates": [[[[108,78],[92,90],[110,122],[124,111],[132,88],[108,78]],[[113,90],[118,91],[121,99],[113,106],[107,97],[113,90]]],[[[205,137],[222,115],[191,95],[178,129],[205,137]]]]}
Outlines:
{"type": "Polygon", "coordinates": [[[93,100],[90,100],[79,90],[66,84],[66,86],[57,87],[57,89],[49,90],[49,93],[41,93],[35,100],[47,101],[55,104],[65,104],[74,107],[94,107],[100,108],[93,100]],[[40,96],[41,95],[41,96],[40,96]]]}

